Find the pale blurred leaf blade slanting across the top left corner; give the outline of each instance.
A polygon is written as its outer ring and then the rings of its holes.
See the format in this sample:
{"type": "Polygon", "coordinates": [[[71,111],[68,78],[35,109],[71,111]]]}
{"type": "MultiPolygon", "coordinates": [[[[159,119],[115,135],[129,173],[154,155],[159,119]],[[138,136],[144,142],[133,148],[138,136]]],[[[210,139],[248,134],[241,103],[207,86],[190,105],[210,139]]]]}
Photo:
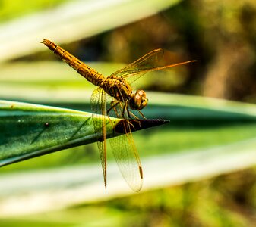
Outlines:
{"type": "Polygon", "coordinates": [[[58,44],[84,39],[149,17],[179,1],[71,1],[58,8],[3,23],[0,25],[0,61],[43,50],[38,43],[43,38],[51,37],[58,44]],[[137,8],[144,10],[137,11],[137,8]]]}

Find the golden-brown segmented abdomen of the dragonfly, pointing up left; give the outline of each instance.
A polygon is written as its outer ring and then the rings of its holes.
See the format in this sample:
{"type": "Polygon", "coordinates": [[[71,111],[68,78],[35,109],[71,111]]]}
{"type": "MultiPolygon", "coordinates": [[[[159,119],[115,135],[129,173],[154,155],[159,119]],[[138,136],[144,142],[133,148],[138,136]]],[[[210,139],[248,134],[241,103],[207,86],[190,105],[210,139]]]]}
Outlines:
{"type": "Polygon", "coordinates": [[[80,61],[78,58],[75,58],[74,55],[65,51],[58,45],[55,45],[54,42],[49,41],[48,39],[43,39],[43,44],[45,44],[51,51],[53,51],[62,61],[65,61],[70,65],[74,70],[77,70],[77,73],[81,74],[89,82],[92,82],[95,86],[100,86],[104,81],[105,77],[98,73],[93,68],[84,64],[83,61],[80,61]]]}

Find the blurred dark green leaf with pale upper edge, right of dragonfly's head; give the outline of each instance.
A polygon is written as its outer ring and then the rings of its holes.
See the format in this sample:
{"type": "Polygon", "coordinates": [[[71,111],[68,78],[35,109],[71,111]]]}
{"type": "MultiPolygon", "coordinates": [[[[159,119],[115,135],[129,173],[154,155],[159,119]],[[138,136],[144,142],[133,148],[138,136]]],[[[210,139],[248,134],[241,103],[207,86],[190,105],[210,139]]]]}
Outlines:
{"type": "MultiPolygon", "coordinates": [[[[188,125],[194,128],[202,126],[228,126],[243,123],[256,123],[256,105],[218,98],[193,95],[149,93],[150,104],[156,106],[150,116],[156,114],[173,120],[175,126],[188,125]]],[[[149,104],[149,105],[150,105],[149,104]]]]}

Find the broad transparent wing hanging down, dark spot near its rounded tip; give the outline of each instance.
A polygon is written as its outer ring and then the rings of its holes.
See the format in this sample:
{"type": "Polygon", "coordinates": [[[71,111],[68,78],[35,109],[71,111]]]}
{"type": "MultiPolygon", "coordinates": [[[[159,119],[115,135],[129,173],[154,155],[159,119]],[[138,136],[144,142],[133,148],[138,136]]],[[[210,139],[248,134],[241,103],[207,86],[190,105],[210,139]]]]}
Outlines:
{"type": "Polygon", "coordinates": [[[140,191],[143,182],[141,160],[134,145],[129,124],[124,124],[125,135],[110,138],[112,153],[125,181],[134,191],[140,191]]]}

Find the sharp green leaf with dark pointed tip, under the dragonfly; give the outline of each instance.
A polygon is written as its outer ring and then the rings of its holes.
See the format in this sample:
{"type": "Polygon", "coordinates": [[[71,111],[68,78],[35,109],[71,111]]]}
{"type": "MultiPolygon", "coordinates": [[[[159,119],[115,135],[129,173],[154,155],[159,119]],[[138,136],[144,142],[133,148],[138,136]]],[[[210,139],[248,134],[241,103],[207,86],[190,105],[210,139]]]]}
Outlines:
{"type": "MultiPolygon", "coordinates": [[[[106,117],[106,138],[125,133],[125,123],[106,117]]],[[[141,120],[133,123],[133,131],[162,123],[141,120]]],[[[0,166],[97,141],[91,113],[57,107],[0,101],[0,127],[0,166]]]]}

